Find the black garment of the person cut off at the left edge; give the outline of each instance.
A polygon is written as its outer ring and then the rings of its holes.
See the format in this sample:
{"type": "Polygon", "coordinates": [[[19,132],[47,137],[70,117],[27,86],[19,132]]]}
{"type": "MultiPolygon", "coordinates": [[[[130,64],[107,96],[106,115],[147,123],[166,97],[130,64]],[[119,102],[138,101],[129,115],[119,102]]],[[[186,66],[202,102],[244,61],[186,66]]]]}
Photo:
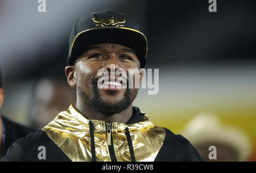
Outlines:
{"type": "MultiPolygon", "coordinates": [[[[26,137],[28,133],[35,132],[36,130],[19,123],[15,123],[7,119],[5,116],[0,117],[0,121],[2,118],[2,123],[5,124],[5,144],[2,144],[1,153],[5,155],[8,148],[19,138],[26,137]]],[[[1,155],[0,155],[1,158],[1,155]]]]}

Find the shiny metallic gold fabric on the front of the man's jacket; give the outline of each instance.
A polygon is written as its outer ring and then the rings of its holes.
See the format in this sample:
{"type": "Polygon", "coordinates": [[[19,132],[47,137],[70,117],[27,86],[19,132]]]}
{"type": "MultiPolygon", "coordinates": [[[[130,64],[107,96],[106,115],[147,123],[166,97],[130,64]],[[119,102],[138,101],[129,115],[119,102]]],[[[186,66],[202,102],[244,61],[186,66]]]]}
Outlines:
{"type": "MultiPolygon", "coordinates": [[[[96,161],[111,162],[109,148],[106,142],[105,121],[85,118],[71,104],[67,111],[60,112],[51,123],[42,130],[71,161],[92,161],[90,149],[89,121],[94,126],[94,141],[96,161]]],[[[131,161],[125,129],[129,128],[136,161],[154,161],[163,145],[166,132],[150,121],[145,113],[139,123],[113,123],[112,137],[117,161],[131,161]]]]}

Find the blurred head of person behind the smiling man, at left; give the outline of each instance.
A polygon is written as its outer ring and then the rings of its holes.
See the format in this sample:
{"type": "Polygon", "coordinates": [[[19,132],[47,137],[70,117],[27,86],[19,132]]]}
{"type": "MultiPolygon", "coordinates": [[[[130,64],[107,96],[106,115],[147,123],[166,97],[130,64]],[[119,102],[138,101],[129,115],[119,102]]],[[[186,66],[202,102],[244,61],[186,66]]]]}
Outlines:
{"type": "Polygon", "coordinates": [[[39,79],[31,99],[31,125],[36,129],[43,128],[75,100],[76,93],[66,80],[60,77],[39,79]]]}

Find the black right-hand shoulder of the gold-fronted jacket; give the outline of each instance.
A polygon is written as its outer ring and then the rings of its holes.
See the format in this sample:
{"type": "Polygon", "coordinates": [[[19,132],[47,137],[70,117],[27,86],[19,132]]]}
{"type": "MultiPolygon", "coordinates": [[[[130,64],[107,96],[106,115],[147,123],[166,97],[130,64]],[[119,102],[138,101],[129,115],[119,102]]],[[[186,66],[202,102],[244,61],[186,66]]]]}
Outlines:
{"type": "Polygon", "coordinates": [[[164,130],[166,130],[166,138],[155,162],[203,162],[200,154],[186,138],[172,133],[169,129],[164,128],[164,130]]]}

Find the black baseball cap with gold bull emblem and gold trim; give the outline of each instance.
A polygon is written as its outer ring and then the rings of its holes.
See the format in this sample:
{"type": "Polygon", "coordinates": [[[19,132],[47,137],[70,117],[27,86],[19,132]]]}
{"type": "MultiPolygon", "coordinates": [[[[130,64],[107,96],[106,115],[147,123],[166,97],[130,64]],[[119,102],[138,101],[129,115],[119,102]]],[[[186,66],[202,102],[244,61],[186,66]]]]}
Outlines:
{"type": "Polygon", "coordinates": [[[113,10],[93,12],[76,20],[69,38],[68,65],[93,44],[118,43],[134,50],[141,62],[146,64],[147,37],[138,22],[113,10]]]}

